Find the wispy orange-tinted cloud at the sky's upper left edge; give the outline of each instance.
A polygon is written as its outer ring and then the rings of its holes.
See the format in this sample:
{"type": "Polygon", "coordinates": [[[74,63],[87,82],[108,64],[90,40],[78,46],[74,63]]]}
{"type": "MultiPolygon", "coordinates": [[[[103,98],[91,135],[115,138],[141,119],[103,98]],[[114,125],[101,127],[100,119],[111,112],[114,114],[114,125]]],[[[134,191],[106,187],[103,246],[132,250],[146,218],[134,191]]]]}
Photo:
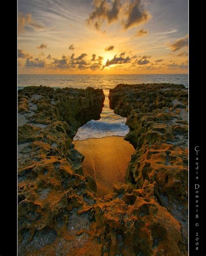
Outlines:
{"type": "Polygon", "coordinates": [[[25,29],[42,30],[45,26],[32,18],[31,13],[18,13],[18,33],[22,33],[25,29]]]}

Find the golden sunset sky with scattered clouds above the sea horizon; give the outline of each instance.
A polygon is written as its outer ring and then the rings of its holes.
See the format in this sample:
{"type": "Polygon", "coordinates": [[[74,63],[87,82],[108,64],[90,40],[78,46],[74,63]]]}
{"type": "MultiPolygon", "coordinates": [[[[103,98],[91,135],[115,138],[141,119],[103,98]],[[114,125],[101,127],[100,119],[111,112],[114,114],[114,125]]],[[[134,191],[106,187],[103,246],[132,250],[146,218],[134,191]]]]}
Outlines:
{"type": "Polygon", "coordinates": [[[188,73],[188,0],[18,0],[18,73],[188,73]]]}

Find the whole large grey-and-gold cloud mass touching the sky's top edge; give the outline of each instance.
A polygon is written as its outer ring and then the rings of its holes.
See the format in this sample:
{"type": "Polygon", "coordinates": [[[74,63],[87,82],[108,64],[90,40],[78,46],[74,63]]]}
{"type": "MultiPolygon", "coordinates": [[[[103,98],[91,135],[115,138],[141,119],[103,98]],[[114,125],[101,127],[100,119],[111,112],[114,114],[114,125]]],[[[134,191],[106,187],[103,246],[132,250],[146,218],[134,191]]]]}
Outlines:
{"type": "Polygon", "coordinates": [[[110,24],[119,18],[123,28],[128,29],[146,23],[151,17],[141,0],[93,0],[92,4],[93,11],[86,22],[97,30],[100,30],[103,23],[110,24]]]}

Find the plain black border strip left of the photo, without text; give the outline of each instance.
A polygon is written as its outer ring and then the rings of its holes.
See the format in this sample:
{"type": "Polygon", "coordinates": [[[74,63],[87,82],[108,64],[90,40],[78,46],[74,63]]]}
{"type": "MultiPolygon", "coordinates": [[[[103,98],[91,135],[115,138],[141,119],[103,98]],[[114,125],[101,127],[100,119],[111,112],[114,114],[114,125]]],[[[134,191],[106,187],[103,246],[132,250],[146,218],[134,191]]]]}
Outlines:
{"type": "Polygon", "coordinates": [[[17,1],[2,3],[1,246],[17,255],[17,1]]]}

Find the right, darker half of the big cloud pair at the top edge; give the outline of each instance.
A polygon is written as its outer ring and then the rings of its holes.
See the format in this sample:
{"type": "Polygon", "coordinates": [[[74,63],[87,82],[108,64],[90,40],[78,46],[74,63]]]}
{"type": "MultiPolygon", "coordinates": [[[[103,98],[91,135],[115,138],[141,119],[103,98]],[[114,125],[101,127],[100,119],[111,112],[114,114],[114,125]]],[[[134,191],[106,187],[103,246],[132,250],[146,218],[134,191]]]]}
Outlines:
{"type": "Polygon", "coordinates": [[[141,0],[133,0],[125,14],[127,16],[126,20],[123,21],[125,29],[146,23],[151,18],[150,13],[145,9],[141,0]]]}

